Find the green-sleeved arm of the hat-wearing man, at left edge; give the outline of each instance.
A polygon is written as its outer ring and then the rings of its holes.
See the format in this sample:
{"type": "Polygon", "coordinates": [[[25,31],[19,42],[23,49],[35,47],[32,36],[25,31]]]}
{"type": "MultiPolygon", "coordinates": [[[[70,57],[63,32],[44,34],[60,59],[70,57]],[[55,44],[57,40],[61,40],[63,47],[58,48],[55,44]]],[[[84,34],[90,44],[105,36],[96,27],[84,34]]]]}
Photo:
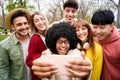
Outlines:
{"type": "Polygon", "coordinates": [[[0,44],[0,80],[9,80],[9,56],[8,51],[0,44]]]}

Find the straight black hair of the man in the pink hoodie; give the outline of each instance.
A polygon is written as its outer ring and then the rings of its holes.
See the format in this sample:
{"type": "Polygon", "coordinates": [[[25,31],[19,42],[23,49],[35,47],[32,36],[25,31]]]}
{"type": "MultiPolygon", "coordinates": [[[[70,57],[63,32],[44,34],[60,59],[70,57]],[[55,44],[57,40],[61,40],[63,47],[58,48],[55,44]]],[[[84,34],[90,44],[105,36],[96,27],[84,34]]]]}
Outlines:
{"type": "Polygon", "coordinates": [[[91,19],[91,23],[94,25],[106,25],[114,22],[114,14],[111,10],[98,10],[91,19]]]}

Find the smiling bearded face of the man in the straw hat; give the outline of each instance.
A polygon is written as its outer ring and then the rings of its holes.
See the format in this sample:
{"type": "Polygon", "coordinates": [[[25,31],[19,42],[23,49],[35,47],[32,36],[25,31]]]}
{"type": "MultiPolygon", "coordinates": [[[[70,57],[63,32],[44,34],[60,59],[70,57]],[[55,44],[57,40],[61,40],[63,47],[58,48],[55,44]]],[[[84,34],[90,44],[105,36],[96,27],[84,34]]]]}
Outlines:
{"type": "Polygon", "coordinates": [[[29,25],[27,18],[24,16],[15,18],[12,29],[15,30],[17,37],[28,36],[29,25]]]}

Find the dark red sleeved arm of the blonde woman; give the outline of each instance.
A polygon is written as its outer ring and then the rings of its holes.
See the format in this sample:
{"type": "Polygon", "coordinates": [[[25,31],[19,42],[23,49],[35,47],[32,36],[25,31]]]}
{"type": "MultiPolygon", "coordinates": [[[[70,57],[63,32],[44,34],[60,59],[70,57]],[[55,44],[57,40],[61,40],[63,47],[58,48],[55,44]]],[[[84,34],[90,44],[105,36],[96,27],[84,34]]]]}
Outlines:
{"type": "Polygon", "coordinates": [[[42,51],[46,49],[45,44],[43,43],[42,39],[39,35],[33,35],[30,40],[29,49],[28,49],[28,56],[26,59],[26,64],[29,67],[32,67],[33,60],[37,59],[41,56],[42,51]]]}

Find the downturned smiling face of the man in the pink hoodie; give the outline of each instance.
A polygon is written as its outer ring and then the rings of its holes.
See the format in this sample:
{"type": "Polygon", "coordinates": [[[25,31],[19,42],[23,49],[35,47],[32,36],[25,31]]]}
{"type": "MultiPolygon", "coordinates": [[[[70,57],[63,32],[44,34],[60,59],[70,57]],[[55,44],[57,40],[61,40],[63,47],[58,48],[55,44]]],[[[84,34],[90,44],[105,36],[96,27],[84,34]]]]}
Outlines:
{"type": "Polygon", "coordinates": [[[109,37],[109,35],[112,33],[112,25],[108,24],[108,25],[93,25],[93,32],[94,35],[98,38],[98,40],[103,41],[105,40],[107,37],[109,37]]]}

